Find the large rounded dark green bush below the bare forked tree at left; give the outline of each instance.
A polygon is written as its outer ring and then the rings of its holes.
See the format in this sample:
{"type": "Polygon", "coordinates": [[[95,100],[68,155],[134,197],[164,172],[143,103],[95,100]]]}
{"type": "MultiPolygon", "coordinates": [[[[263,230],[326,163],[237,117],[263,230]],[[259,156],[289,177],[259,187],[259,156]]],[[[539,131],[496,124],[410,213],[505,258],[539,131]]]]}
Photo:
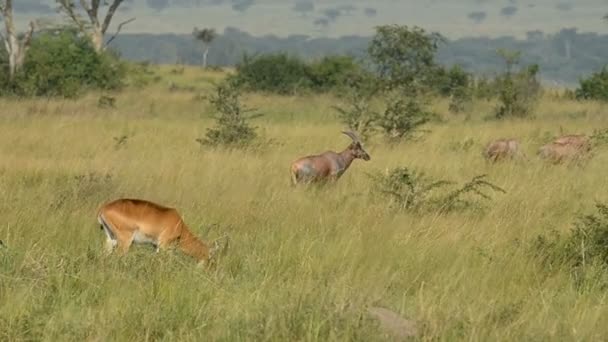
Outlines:
{"type": "Polygon", "coordinates": [[[33,41],[12,91],[23,96],[74,97],[86,90],[120,88],[125,66],[110,53],[98,54],[72,30],[45,32],[33,41]]]}

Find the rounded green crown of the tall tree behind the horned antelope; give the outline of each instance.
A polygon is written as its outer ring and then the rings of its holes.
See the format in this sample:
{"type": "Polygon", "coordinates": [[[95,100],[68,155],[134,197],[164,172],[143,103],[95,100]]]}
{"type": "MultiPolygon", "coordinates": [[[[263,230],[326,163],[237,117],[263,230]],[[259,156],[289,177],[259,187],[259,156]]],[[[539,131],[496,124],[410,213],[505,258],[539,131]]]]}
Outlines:
{"type": "Polygon", "coordinates": [[[388,88],[420,87],[429,84],[435,68],[435,53],[443,38],[419,27],[376,27],[368,54],[388,88]]]}

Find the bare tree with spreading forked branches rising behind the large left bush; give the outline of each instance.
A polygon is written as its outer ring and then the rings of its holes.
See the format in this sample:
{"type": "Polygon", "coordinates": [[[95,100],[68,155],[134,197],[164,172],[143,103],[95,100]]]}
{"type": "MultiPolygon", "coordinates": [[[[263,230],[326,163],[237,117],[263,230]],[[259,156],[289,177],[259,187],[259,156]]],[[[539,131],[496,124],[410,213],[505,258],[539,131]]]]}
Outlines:
{"type": "Polygon", "coordinates": [[[84,10],[89,18],[88,23],[79,13],[79,9],[75,3],[75,0],[56,0],[59,4],[59,9],[68,16],[68,18],[74,22],[74,24],[78,27],[78,29],[83,33],[89,36],[91,42],[93,43],[93,47],[97,53],[102,52],[110,42],[112,42],[116,36],[120,33],[122,27],[133,20],[135,18],[131,18],[126,20],[118,25],[116,33],[104,44],[104,36],[110,27],[110,23],[112,22],[112,18],[114,17],[114,13],[120,5],[124,2],[124,0],[80,0],[80,10],[84,10]],[[103,20],[99,19],[99,9],[101,6],[107,6],[108,11],[106,12],[103,20]]]}

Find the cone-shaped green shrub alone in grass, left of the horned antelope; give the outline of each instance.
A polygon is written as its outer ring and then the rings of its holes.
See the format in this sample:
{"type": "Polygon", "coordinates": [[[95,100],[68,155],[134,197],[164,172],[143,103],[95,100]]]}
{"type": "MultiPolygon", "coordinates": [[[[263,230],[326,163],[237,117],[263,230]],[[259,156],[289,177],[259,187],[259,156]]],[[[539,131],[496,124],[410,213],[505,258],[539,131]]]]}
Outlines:
{"type": "Polygon", "coordinates": [[[232,82],[218,85],[215,94],[209,102],[217,113],[215,128],[208,128],[203,139],[197,139],[202,145],[245,147],[257,136],[255,127],[249,124],[249,119],[259,117],[259,114],[247,114],[251,109],[244,108],[240,101],[240,89],[232,82]]]}

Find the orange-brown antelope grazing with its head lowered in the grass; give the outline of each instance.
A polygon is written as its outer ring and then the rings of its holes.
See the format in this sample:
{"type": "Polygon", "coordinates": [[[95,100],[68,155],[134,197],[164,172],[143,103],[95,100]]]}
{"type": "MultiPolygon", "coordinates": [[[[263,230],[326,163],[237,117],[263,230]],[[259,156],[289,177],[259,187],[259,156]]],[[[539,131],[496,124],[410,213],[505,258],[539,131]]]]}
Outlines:
{"type": "Polygon", "coordinates": [[[209,248],[194,236],[174,208],[145,200],[121,198],[106,203],[99,209],[97,220],[107,236],[108,253],[116,246],[126,253],[133,243],[152,244],[158,252],[176,243],[199,265],[205,265],[218,248],[217,242],[209,248]]]}

